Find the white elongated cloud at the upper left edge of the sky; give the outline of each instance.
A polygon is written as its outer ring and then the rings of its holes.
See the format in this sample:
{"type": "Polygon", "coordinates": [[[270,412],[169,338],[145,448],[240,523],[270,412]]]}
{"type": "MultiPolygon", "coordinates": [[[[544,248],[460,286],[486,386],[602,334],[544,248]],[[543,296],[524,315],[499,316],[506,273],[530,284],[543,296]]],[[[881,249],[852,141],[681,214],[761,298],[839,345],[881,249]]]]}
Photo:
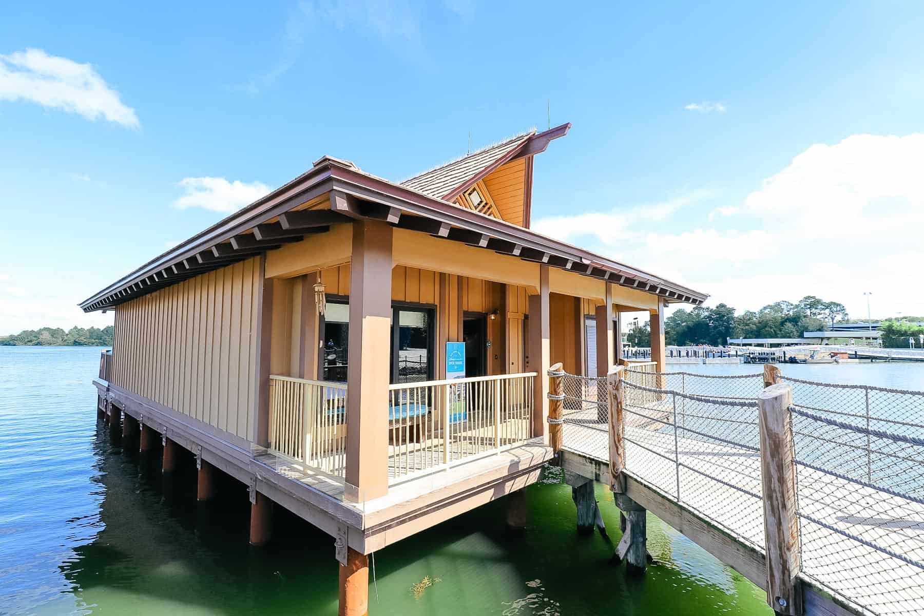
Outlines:
{"type": "Polygon", "coordinates": [[[41,49],[0,54],[0,100],[31,101],[88,120],[100,117],[139,127],[135,110],[122,103],[90,64],[79,64],[41,49]]]}

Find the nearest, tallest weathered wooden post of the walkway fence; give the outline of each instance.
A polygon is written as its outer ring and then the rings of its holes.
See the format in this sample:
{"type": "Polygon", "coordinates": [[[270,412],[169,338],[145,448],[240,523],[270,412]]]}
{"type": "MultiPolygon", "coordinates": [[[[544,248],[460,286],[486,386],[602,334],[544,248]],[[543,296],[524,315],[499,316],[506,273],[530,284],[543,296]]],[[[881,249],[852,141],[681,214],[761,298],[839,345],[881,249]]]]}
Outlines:
{"type": "Polygon", "coordinates": [[[802,613],[802,591],[796,579],[801,560],[796,511],[796,461],[789,411],[793,404],[792,388],[785,383],[772,385],[760,393],[757,402],[763,532],[767,550],[767,602],[778,614],[798,616],[802,613]]]}

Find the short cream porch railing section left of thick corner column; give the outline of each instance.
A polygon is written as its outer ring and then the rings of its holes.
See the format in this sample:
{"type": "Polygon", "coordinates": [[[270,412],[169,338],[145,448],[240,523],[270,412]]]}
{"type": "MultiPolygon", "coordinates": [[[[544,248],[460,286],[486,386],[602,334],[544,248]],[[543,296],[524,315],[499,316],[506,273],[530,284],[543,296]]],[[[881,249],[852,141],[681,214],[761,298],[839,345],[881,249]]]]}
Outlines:
{"type": "Polygon", "coordinates": [[[346,477],[346,383],[271,375],[270,449],[346,477]]]}

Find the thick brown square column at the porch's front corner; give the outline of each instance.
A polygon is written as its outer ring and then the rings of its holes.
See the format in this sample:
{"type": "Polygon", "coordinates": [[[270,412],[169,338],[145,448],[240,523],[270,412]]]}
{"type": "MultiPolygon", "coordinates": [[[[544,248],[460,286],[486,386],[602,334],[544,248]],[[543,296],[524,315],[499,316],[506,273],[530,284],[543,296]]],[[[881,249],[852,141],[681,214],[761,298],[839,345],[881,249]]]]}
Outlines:
{"type": "Polygon", "coordinates": [[[355,221],[346,368],[346,498],[353,501],[388,492],[391,280],[392,227],[355,221]]]}

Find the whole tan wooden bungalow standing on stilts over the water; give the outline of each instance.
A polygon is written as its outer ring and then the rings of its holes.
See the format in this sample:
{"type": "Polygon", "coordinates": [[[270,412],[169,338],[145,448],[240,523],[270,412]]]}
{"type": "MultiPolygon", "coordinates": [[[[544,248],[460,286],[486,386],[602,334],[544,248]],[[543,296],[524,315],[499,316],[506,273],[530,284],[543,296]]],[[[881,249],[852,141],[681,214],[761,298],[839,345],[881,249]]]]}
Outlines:
{"type": "Polygon", "coordinates": [[[531,130],[404,182],[324,156],[80,304],[116,312],[95,380],[113,427],[249,486],[328,533],[340,613],[367,611],[367,556],[522,490],[553,457],[549,368],[605,375],[619,313],[705,295],[529,230],[531,130]]]}

